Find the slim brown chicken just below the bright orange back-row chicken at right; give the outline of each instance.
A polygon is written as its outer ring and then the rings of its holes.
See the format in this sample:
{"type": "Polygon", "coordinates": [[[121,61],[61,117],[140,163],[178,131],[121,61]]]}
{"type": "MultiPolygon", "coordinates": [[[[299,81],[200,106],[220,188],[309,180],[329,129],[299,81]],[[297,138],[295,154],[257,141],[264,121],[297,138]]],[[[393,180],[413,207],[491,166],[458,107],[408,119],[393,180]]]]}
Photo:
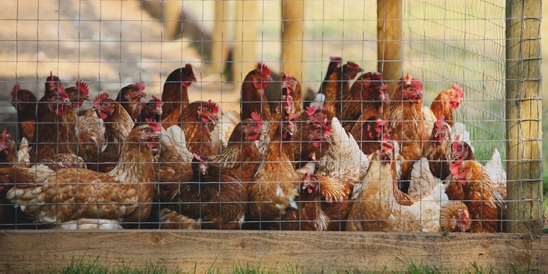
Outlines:
{"type": "Polygon", "coordinates": [[[445,179],[449,175],[451,127],[443,121],[443,115],[434,123],[434,129],[432,129],[423,155],[428,159],[432,175],[440,179],[445,179]]]}

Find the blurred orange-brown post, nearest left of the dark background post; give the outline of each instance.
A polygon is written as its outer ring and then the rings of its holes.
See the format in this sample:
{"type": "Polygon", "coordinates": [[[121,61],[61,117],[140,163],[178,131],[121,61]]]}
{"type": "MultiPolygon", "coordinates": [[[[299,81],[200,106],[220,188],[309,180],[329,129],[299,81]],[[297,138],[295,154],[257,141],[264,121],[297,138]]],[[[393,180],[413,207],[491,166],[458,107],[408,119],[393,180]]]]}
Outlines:
{"type": "Polygon", "coordinates": [[[302,81],[303,0],[282,0],[282,17],[282,70],[302,81]]]}

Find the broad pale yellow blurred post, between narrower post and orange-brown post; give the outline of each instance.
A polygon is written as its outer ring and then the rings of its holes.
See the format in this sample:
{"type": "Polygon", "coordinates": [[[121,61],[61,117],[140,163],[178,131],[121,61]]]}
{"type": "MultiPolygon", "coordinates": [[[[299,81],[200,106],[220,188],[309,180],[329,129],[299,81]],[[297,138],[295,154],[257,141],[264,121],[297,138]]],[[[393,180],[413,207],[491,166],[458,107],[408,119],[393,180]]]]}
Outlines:
{"type": "Polygon", "coordinates": [[[236,24],[234,26],[234,58],[232,75],[235,88],[249,71],[257,67],[257,39],[259,24],[258,5],[256,0],[236,1],[236,24]]]}

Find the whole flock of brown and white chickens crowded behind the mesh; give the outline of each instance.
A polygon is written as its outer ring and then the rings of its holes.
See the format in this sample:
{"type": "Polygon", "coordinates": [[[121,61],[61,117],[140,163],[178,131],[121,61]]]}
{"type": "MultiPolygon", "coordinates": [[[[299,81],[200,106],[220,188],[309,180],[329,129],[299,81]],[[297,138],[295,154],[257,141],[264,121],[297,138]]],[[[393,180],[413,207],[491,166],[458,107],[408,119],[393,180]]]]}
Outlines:
{"type": "Polygon", "coordinates": [[[192,66],[175,69],[162,98],[145,84],[101,93],[49,75],[36,96],[16,84],[18,136],[0,138],[0,223],[62,229],[292,229],[499,232],[506,173],[485,166],[453,121],[458,86],[423,106],[406,75],[392,95],[381,73],[331,58],[308,107],[282,73],[264,94],[265,64],[245,77],[241,111],[190,103],[192,66]],[[352,83],[353,81],[353,83],[352,83]]]}

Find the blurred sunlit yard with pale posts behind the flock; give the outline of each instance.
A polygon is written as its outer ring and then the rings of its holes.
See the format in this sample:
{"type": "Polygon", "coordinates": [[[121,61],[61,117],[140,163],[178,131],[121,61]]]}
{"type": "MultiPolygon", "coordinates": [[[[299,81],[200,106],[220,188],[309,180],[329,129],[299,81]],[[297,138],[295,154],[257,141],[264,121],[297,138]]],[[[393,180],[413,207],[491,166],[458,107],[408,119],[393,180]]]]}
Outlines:
{"type": "MultiPolygon", "coordinates": [[[[480,160],[488,160],[494,148],[505,158],[505,1],[402,2],[401,74],[423,80],[427,104],[453,82],[464,86],[466,103],[456,119],[466,123],[480,160]]],[[[9,0],[0,18],[4,122],[14,119],[13,84],[41,97],[50,71],[63,82],[88,82],[92,96],[115,95],[138,81],[150,95],[162,92],[171,71],[191,63],[198,82],[190,100],[213,99],[225,110],[238,110],[240,81],[257,62],[268,64],[274,79],[290,71],[309,99],[329,56],[377,70],[376,0],[9,0]]],[[[542,30],[548,34],[547,21],[542,30]]],[[[548,57],[547,40],[543,45],[548,57]]],[[[543,72],[548,75],[547,62],[543,72]]]]}

